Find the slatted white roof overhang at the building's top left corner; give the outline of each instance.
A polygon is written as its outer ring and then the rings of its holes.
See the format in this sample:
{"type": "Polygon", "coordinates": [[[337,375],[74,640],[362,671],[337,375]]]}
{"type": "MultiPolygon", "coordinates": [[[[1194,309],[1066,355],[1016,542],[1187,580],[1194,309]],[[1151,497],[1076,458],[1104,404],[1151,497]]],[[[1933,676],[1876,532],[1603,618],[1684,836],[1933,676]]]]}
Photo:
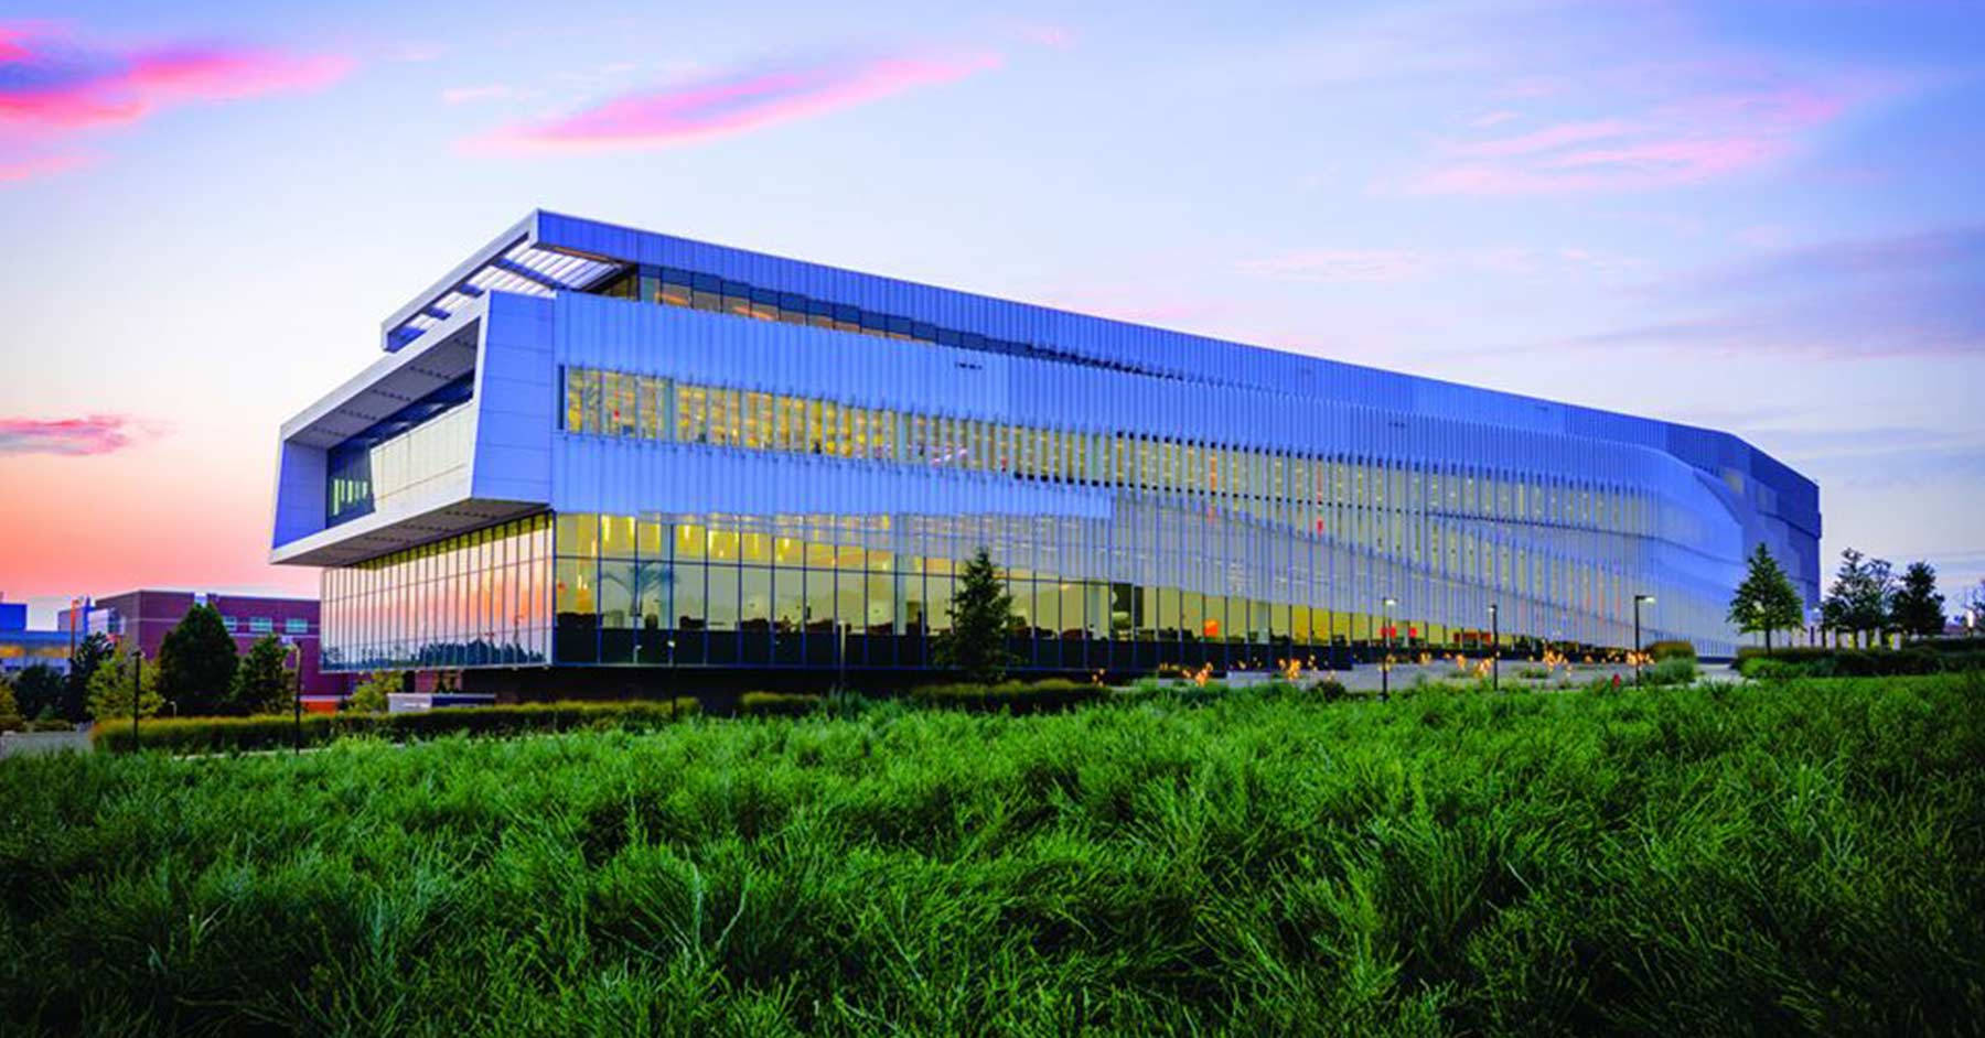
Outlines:
{"type": "Polygon", "coordinates": [[[609,256],[542,244],[538,238],[538,216],[540,212],[524,216],[510,230],[498,234],[490,244],[478,248],[445,278],[429,286],[427,292],[421,292],[407,306],[395,310],[379,325],[379,347],[387,353],[399,351],[449,318],[474,306],[490,290],[514,292],[518,296],[582,292],[629,266],[609,256]]]}

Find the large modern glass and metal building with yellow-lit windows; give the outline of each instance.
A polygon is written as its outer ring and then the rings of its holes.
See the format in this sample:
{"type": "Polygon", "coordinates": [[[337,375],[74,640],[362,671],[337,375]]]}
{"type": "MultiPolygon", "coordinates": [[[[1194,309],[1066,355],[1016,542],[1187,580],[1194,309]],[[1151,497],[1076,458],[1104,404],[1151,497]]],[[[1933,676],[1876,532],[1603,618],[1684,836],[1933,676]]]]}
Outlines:
{"type": "Polygon", "coordinates": [[[1818,593],[1818,488],[1727,433],[552,212],[381,347],[282,429],[328,669],[915,671],[979,546],[1042,671],[1624,647],[1636,595],[1729,653],[1759,542],[1818,593]]]}

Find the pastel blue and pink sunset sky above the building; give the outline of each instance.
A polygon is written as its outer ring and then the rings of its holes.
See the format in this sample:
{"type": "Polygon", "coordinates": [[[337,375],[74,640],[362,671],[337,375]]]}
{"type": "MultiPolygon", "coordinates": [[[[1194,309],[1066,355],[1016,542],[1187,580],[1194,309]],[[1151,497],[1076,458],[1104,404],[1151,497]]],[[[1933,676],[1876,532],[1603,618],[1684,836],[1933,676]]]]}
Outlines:
{"type": "Polygon", "coordinates": [[[0,0],[0,591],[314,593],[280,423],[532,208],[1727,429],[1985,578],[1977,4],[943,8],[0,0]]]}

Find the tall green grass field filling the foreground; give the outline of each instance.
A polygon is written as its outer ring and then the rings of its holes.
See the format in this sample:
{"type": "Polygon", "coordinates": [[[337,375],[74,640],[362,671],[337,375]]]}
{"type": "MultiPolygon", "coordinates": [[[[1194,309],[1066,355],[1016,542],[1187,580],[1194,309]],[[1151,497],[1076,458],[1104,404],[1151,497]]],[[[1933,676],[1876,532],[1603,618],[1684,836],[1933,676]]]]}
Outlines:
{"type": "Polygon", "coordinates": [[[1977,675],[0,762],[8,1026],[1977,1032],[1977,675]]]}

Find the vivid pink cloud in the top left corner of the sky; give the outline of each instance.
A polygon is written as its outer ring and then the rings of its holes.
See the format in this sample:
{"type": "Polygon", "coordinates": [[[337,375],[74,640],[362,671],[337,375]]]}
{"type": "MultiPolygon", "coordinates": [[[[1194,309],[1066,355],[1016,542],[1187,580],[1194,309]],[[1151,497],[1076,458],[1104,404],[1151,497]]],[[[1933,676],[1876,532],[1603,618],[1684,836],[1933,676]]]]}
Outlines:
{"type": "Polygon", "coordinates": [[[46,151],[52,139],[179,105],[316,89],[351,65],[343,56],[222,44],[97,48],[48,26],[0,26],[0,145],[42,151],[8,159],[8,179],[73,169],[73,157],[46,151]]]}

